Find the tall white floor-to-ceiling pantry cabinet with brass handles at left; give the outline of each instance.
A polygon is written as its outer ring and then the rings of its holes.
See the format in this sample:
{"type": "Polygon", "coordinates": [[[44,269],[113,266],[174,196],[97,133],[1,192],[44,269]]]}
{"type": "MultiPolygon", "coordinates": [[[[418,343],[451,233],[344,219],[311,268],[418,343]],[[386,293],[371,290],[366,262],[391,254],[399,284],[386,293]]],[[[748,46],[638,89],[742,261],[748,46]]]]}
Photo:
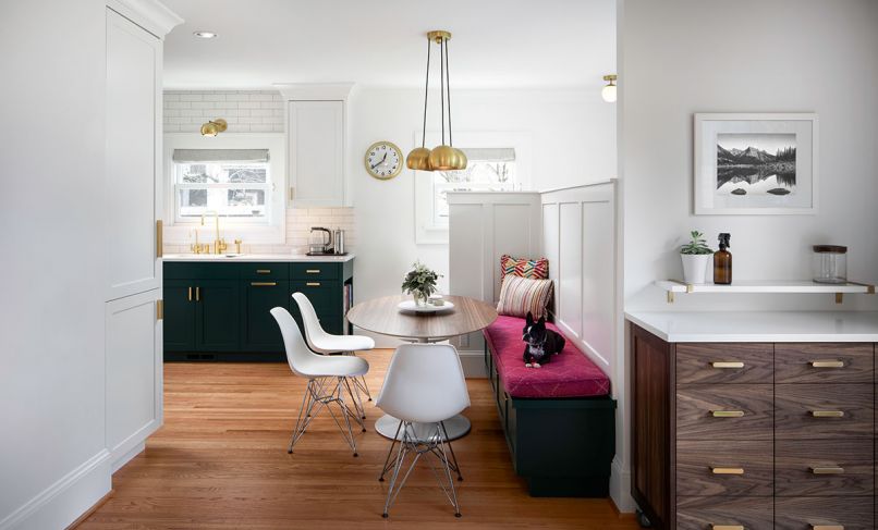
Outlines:
{"type": "Polygon", "coordinates": [[[162,38],[181,22],[154,0],[107,2],[105,369],[113,471],[162,422],[162,38]]]}

